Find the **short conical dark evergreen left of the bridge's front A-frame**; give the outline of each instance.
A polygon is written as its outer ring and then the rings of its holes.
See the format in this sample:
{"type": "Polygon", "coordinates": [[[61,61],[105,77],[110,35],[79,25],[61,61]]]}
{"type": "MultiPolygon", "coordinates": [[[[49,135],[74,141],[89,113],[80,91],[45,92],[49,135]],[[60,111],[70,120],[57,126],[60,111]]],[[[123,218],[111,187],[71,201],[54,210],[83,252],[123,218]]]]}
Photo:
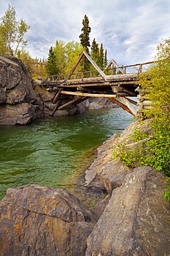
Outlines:
{"type": "Polygon", "coordinates": [[[56,54],[52,46],[50,47],[47,64],[45,65],[47,75],[59,75],[59,68],[56,66],[56,54]]]}

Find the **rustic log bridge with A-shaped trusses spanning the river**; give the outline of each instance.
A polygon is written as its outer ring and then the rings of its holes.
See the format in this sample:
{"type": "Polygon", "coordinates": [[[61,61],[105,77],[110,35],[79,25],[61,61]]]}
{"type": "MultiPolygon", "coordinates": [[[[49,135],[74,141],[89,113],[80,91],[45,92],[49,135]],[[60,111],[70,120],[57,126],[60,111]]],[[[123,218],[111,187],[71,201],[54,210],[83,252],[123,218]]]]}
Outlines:
{"type": "Polygon", "coordinates": [[[138,104],[138,102],[131,100],[131,97],[138,96],[138,75],[143,72],[144,65],[146,66],[151,63],[145,62],[143,64],[118,66],[114,60],[111,60],[105,69],[101,70],[87,52],[83,51],[70,74],[52,75],[43,80],[41,84],[49,91],[56,91],[53,104],[56,103],[56,100],[61,95],[76,96],[70,102],[59,106],[58,109],[64,109],[69,104],[76,105],[90,97],[100,97],[109,98],[111,102],[116,103],[133,116],[137,116],[137,110],[134,105],[138,104]],[[95,71],[74,73],[83,57],[89,60],[94,66],[95,71]],[[130,69],[130,72],[127,71],[128,69],[130,69]]]}

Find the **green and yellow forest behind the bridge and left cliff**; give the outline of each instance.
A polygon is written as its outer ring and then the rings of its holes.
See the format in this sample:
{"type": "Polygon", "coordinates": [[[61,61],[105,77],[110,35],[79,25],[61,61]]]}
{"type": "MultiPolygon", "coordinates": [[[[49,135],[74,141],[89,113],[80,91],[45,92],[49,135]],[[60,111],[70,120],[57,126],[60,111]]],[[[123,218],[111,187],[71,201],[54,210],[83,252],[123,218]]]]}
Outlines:
{"type": "MultiPolygon", "coordinates": [[[[107,66],[107,50],[104,50],[103,43],[98,44],[95,38],[92,44],[89,42],[91,28],[87,15],[82,24],[81,35],[79,35],[80,42],[73,40],[66,43],[61,39],[56,39],[56,44],[50,46],[47,60],[45,57],[43,60],[39,57],[33,59],[29,51],[24,48],[28,44],[28,40],[24,39],[25,33],[28,32],[30,26],[23,19],[17,21],[14,6],[8,4],[5,15],[0,17],[0,55],[13,56],[22,60],[34,79],[70,73],[83,50],[87,51],[94,62],[103,69],[107,66]]],[[[77,71],[93,69],[87,60],[83,60],[77,71]]]]}

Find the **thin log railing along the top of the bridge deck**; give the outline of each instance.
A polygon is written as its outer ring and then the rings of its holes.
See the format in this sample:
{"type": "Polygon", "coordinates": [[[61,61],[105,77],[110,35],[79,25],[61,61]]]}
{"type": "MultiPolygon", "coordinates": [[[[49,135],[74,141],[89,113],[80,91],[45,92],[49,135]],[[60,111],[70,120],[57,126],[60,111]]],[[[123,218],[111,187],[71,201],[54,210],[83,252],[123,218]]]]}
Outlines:
{"type": "MultiPolygon", "coordinates": [[[[147,67],[149,64],[153,62],[145,62],[142,64],[134,64],[134,65],[127,65],[127,66],[112,66],[111,68],[104,69],[103,72],[105,75],[121,75],[121,74],[128,74],[128,73],[138,73],[147,71],[147,67]]],[[[47,77],[47,81],[56,82],[59,80],[67,80],[69,74],[62,74],[62,75],[51,75],[47,77]]],[[[73,73],[70,76],[70,80],[78,79],[78,78],[85,78],[85,77],[100,77],[98,71],[85,71],[85,72],[78,72],[73,73]]]]}

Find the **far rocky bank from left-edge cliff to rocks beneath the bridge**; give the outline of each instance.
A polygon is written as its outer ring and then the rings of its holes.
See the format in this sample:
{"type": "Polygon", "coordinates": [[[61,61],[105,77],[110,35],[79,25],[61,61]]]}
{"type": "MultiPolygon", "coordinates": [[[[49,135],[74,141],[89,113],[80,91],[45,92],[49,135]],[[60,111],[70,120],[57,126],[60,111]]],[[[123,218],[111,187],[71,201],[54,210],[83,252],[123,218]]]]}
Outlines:
{"type": "Polygon", "coordinates": [[[108,99],[90,98],[58,110],[74,96],[61,95],[53,104],[55,95],[55,91],[43,89],[40,81],[32,80],[21,60],[0,56],[0,125],[26,125],[42,116],[70,116],[85,109],[116,107],[108,99]]]}

